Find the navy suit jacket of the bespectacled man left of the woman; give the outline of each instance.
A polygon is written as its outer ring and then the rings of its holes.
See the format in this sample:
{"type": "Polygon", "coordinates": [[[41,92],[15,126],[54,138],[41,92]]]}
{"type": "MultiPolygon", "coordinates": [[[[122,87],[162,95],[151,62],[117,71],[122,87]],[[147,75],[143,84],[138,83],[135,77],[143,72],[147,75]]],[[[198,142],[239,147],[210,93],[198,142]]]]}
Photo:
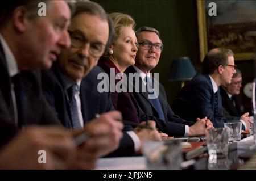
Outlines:
{"type": "MultiPolygon", "coordinates": [[[[100,67],[93,68],[88,75],[81,81],[80,99],[81,112],[84,123],[92,120],[96,113],[105,113],[114,110],[110,94],[108,92],[98,92],[97,85],[101,80],[97,79],[99,73],[104,72],[100,67]]],[[[69,104],[67,96],[65,96],[63,80],[60,77],[59,70],[56,64],[53,64],[51,70],[42,71],[43,93],[46,96],[49,104],[55,109],[57,116],[61,120],[64,127],[72,128],[70,119],[69,104]]],[[[125,126],[125,130],[129,131],[132,128],[129,125],[125,126]]],[[[109,157],[131,155],[134,153],[134,143],[130,136],[124,131],[123,138],[119,144],[119,148],[109,157]]]]}

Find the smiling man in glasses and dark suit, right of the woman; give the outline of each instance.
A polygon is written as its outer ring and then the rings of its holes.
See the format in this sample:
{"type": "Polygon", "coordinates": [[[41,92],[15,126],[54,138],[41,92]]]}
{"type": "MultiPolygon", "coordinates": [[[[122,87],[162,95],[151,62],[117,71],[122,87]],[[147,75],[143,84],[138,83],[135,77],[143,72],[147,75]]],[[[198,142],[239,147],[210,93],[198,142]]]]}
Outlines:
{"type": "Polygon", "coordinates": [[[135,89],[137,88],[136,85],[147,86],[148,81],[145,81],[146,78],[152,80],[152,84],[158,85],[158,87],[154,87],[155,92],[158,92],[156,99],[150,99],[150,93],[148,91],[143,92],[143,89],[133,91],[138,106],[142,110],[138,111],[139,116],[151,116],[156,121],[159,130],[170,136],[196,136],[204,134],[205,125],[210,129],[212,123],[210,123],[207,118],[204,118],[201,120],[197,119],[198,121],[194,124],[192,121],[185,121],[179,116],[176,116],[167,102],[166,92],[163,86],[158,80],[151,78],[150,71],[158,64],[163,49],[159,32],[154,28],[141,27],[136,31],[136,36],[139,47],[135,58],[135,65],[127,68],[126,74],[128,76],[129,73],[139,74],[139,78],[131,82],[131,85],[133,85],[135,89]],[[156,90],[156,88],[158,88],[159,91],[156,90]]]}

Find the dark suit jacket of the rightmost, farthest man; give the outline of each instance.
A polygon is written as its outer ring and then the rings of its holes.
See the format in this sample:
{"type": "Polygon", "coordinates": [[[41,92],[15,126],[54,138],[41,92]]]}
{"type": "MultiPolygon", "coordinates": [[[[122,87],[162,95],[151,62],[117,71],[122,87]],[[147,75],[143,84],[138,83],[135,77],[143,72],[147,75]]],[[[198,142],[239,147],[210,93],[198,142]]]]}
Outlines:
{"type": "Polygon", "coordinates": [[[233,101],[229,98],[228,94],[222,87],[220,87],[220,91],[221,91],[222,107],[226,110],[226,112],[229,113],[230,116],[240,117],[242,112],[241,112],[241,105],[238,101],[237,96],[233,96],[234,102],[236,104],[236,107],[235,107],[233,104],[233,101]]]}

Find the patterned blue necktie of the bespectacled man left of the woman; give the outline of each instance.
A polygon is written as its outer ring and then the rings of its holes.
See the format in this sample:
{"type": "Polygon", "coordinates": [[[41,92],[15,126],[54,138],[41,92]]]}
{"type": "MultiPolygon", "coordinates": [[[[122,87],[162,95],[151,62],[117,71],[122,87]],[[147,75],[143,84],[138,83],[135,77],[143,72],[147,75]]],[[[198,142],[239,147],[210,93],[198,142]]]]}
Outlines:
{"type": "Polygon", "coordinates": [[[76,104],[75,95],[79,92],[79,87],[77,84],[73,84],[68,88],[68,99],[69,99],[69,109],[72,120],[73,129],[81,129],[81,124],[78,116],[78,108],[76,104]]]}

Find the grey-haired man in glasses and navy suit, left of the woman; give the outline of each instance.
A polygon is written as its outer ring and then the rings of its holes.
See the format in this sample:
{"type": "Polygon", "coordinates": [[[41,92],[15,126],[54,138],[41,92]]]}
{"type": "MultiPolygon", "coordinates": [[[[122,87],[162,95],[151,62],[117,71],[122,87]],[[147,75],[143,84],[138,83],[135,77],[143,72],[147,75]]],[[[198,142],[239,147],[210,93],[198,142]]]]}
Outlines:
{"type": "MultiPolygon", "coordinates": [[[[100,82],[97,75],[103,70],[96,66],[105,47],[109,47],[112,42],[114,30],[112,20],[96,3],[80,2],[75,6],[68,28],[71,48],[60,53],[51,70],[42,72],[42,86],[46,99],[55,109],[61,123],[67,128],[79,129],[96,115],[114,110],[108,92],[100,93],[97,90],[100,82]],[[104,24],[102,16],[108,18],[109,26],[104,24]],[[77,92],[72,96],[69,90],[73,85],[77,92]]],[[[155,126],[154,122],[150,124],[155,126]]],[[[135,133],[130,125],[125,124],[120,146],[111,155],[133,154],[141,150],[143,140],[152,137],[160,139],[155,130],[139,129],[135,133]]]]}

